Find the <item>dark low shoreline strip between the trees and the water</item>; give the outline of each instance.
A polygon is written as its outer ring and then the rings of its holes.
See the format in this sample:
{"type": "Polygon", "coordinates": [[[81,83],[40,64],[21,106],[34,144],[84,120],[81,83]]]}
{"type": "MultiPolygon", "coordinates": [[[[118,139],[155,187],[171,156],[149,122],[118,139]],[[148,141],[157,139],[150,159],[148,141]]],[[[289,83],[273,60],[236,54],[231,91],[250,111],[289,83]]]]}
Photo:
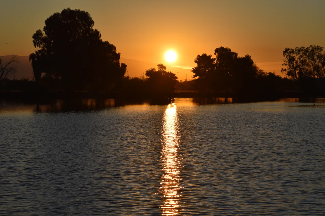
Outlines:
{"type": "Polygon", "coordinates": [[[80,101],[80,100],[98,100],[104,101],[114,99],[114,104],[137,104],[149,102],[152,105],[166,105],[173,101],[174,98],[193,98],[198,104],[227,104],[227,103],[251,103],[263,101],[276,101],[281,98],[295,98],[295,101],[317,103],[316,100],[325,99],[320,95],[304,94],[272,94],[272,95],[236,95],[233,93],[200,93],[200,92],[174,92],[169,96],[150,96],[125,94],[119,92],[43,92],[34,94],[32,92],[6,91],[0,93],[0,101],[22,102],[26,104],[47,104],[55,100],[62,101],[80,101]]]}

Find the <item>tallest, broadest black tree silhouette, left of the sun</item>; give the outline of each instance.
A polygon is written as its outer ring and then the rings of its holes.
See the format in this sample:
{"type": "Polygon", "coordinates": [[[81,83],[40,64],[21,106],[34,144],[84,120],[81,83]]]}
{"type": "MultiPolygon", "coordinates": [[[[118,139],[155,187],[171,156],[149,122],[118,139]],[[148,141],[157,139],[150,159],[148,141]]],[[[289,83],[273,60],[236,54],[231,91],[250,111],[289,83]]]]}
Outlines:
{"type": "Polygon", "coordinates": [[[44,73],[60,78],[67,89],[110,89],[126,71],[120,53],[94,29],[88,12],[63,9],[45,20],[42,30],[32,36],[43,50],[44,73]]]}

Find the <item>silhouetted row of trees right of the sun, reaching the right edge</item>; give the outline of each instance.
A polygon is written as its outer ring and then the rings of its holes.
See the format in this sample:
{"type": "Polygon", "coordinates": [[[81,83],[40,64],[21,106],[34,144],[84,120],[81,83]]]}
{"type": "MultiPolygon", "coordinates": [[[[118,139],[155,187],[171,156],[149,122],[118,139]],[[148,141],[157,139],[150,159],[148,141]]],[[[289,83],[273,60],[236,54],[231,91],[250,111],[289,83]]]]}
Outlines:
{"type": "Polygon", "coordinates": [[[237,95],[277,94],[299,92],[324,93],[323,47],[286,48],[281,72],[285,78],[258,68],[250,55],[239,57],[229,48],[214,50],[215,57],[206,53],[198,55],[193,68],[196,89],[200,91],[233,92],[237,95]]]}

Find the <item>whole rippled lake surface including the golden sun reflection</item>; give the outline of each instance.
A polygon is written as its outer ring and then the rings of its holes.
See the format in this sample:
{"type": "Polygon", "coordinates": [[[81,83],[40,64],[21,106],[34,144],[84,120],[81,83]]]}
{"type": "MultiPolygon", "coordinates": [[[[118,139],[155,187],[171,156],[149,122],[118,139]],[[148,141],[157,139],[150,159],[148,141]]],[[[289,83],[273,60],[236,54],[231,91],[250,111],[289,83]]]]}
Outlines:
{"type": "Polygon", "coordinates": [[[325,215],[325,101],[298,101],[1,102],[0,215],[325,215]]]}

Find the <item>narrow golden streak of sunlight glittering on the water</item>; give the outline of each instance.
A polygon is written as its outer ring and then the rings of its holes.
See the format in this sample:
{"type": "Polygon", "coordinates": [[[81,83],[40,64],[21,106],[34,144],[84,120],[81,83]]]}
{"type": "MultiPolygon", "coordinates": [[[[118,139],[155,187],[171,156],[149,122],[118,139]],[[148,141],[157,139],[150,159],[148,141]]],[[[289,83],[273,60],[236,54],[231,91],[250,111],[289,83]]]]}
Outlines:
{"type": "Polygon", "coordinates": [[[162,215],[177,215],[180,213],[180,161],[179,148],[179,125],[175,103],[169,104],[163,117],[162,128],[162,165],[164,174],[161,177],[163,204],[162,215]]]}

